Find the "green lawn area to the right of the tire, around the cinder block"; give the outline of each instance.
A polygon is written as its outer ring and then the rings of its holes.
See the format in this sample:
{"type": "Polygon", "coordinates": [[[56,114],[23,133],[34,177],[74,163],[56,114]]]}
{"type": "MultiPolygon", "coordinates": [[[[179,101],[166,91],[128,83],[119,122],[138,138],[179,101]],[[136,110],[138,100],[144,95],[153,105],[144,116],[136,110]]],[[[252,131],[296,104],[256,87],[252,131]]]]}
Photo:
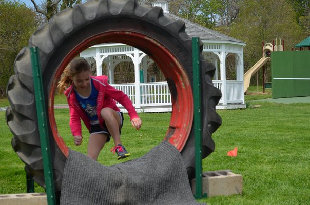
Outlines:
{"type": "Polygon", "coordinates": [[[261,107],[218,111],[223,124],[213,135],[216,150],[203,160],[203,170],[231,169],[241,174],[243,194],[203,201],[309,204],[310,104],[258,105],[261,107]],[[226,156],[234,147],[238,147],[238,156],[226,156]]]}

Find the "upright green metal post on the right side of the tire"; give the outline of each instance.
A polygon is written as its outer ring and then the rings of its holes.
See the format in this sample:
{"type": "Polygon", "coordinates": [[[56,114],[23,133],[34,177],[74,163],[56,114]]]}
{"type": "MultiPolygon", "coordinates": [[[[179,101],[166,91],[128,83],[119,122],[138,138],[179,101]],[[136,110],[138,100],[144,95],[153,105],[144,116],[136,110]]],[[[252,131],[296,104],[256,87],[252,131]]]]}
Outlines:
{"type": "Polygon", "coordinates": [[[194,131],[195,131],[195,180],[196,199],[206,197],[202,194],[202,130],[201,130],[201,71],[199,37],[192,38],[192,67],[193,67],[193,100],[194,100],[194,131]]]}

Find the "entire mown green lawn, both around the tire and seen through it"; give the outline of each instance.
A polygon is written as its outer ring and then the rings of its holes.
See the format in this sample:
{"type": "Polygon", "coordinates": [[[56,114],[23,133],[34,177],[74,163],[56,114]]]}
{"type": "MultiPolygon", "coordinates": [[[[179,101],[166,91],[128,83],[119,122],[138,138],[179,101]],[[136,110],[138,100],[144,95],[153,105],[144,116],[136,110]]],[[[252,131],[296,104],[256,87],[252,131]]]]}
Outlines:
{"type": "MultiPolygon", "coordinates": [[[[310,104],[250,102],[249,105],[260,107],[217,111],[223,122],[213,135],[216,150],[203,159],[203,171],[230,169],[241,174],[243,194],[208,197],[199,202],[209,205],[310,204],[310,104]],[[238,147],[238,156],[227,156],[235,147],[238,147]]],[[[131,159],[158,145],[170,120],[170,113],[140,113],[143,127],[136,131],[128,115],[124,116],[122,141],[131,159]]],[[[76,147],[68,127],[68,109],[56,109],[55,118],[66,145],[86,153],[86,129],[83,128],[83,144],[76,147]]],[[[0,112],[0,130],[0,194],[25,193],[24,164],[11,147],[12,134],[3,111],[0,112]]],[[[111,148],[111,142],[105,145],[99,156],[100,163],[113,165],[124,161],[115,160],[111,148]]],[[[38,186],[35,191],[44,192],[38,186]]]]}

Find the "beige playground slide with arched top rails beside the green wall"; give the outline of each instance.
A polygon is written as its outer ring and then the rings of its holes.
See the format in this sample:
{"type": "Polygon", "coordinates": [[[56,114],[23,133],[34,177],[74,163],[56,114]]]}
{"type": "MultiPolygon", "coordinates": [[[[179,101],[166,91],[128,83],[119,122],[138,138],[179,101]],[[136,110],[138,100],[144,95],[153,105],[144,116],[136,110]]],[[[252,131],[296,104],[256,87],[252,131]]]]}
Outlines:
{"type": "Polygon", "coordinates": [[[266,44],[264,44],[263,42],[263,57],[259,59],[257,63],[244,74],[244,77],[243,77],[244,78],[244,93],[246,93],[250,85],[251,77],[255,73],[257,73],[264,65],[266,65],[267,62],[271,61],[271,52],[272,51],[283,51],[283,50],[284,50],[284,41],[282,42],[281,38],[276,38],[276,45],[275,45],[275,41],[273,41],[273,43],[268,42],[266,44]]]}

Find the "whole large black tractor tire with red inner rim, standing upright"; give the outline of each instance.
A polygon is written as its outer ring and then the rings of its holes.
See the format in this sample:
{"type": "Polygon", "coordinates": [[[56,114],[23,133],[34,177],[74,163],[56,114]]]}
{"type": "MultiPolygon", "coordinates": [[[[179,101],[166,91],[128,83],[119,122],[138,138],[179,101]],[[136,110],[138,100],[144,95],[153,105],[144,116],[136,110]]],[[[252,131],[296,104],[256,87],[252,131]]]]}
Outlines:
{"type": "MultiPolygon", "coordinates": [[[[164,140],[181,152],[189,178],[195,176],[192,43],[185,33],[185,24],[165,16],[159,7],[146,8],[134,0],[91,1],[56,14],[29,39],[29,47],[40,49],[56,191],[61,190],[69,153],[57,132],[54,119],[53,99],[57,81],[68,63],[81,51],[95,44],[111,42],[140,49],[162,70],[172,97],[171,121],[164,140]]],[[[215,67],[207,63],[202,54],[200,58],[204,158],[215,148],[211,134],[221,124],[221,118],[215,111],[221,92],[211,81],[215,67]]],[[[10,106],[6,111],[7,123],[14,135],[12,147],[25,163],[26,172],[45,187],[28,47],[17,55],[14,70],[15,75],[11,76],[7,86],[10,106]]]]}

